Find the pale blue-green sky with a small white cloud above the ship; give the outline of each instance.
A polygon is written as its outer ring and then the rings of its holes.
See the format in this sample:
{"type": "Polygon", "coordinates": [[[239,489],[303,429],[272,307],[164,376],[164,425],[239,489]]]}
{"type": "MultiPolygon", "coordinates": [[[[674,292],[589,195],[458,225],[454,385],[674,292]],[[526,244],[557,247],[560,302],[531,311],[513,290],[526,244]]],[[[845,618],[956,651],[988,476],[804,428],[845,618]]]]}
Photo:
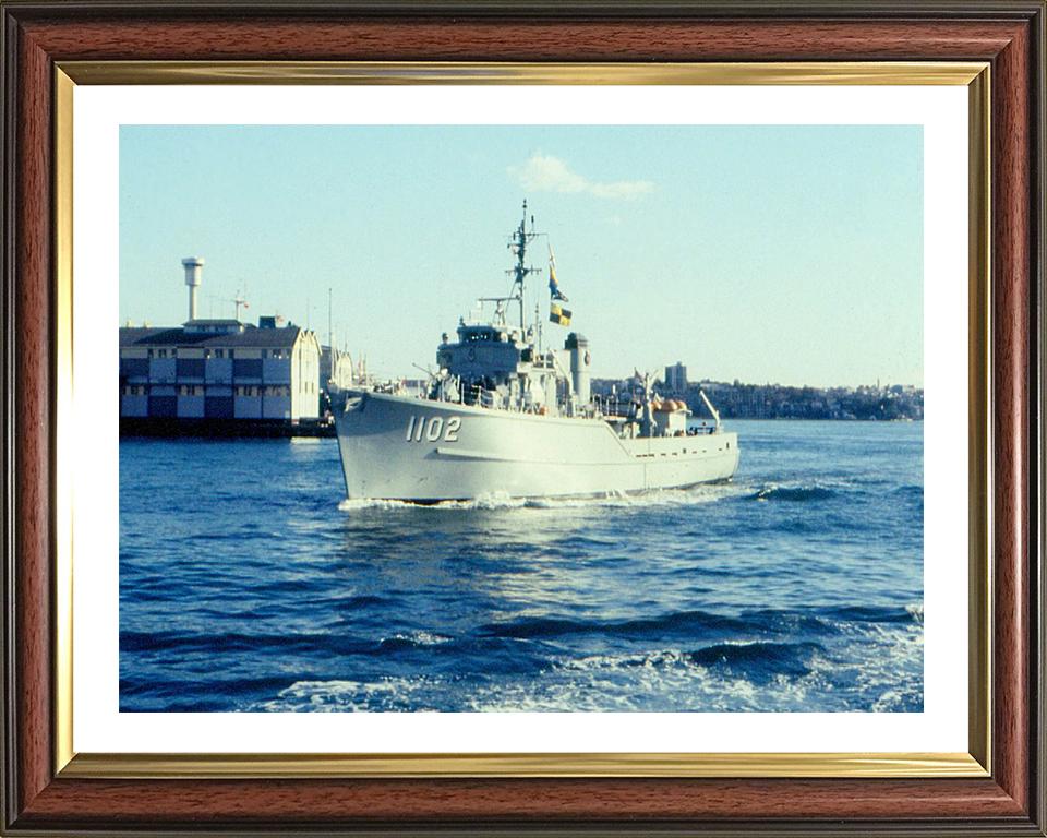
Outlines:
{"type": "Polygon", "coordinates": [[[923,385],[919,125],[123,125],[120,322],[182,323],[200,256],[200,316],[245,290],[326,342],[333,288],[338,343],[414,376],[508,291],[525,197],[544,334],[598,376],[923,385]]]}

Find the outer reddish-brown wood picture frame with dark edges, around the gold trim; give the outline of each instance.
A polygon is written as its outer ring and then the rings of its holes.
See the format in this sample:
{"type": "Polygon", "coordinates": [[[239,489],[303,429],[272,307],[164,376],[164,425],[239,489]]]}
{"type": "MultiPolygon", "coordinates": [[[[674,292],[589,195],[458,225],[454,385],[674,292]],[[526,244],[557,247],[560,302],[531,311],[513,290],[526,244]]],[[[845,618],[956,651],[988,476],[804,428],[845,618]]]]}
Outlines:
{"type": "Polygon", "coordinates": [[[1045,835],[1044,38],[1038,2],[2,0],[0,831],[1045,835]],[[52,142],[63,61],[986,61],[991,775],[103,779],[55,769],[52,142]]]}

